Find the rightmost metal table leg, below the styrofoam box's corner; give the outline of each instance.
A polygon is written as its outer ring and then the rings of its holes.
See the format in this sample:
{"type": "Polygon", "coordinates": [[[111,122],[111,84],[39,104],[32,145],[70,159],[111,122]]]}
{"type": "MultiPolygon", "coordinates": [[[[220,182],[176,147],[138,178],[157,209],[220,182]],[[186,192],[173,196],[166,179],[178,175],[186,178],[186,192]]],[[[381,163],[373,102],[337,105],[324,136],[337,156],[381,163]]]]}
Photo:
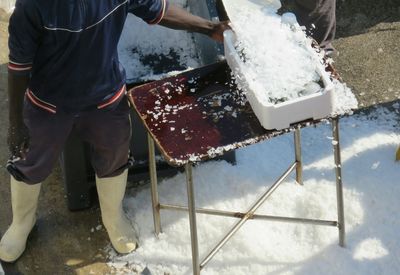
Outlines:
{"type": "Polygon", "coordinates": [[[336,172],[336,197],[337,197],[337,210],[338,210],[338,228],[339,228],[339,245],[345,246],[345,221],[344,221],[344,204],[343,204],[343,184],[342,184],[342,166],[340,157],[340,143],[339,143],[339,118],[332,119],[333,130],[333,151],[335,159],[335,172],[336,172]]]}

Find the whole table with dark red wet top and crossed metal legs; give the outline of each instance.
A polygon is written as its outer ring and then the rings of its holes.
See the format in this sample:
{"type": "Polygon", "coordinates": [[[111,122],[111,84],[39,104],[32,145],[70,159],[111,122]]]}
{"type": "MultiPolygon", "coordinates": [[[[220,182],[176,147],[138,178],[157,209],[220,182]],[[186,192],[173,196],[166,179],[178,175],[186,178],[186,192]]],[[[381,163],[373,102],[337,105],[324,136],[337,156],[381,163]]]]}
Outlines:
{"type": "Polygon", "coordinates": [[[322,120],[302,121],[279,131],[265,130],[259,124],[243,93],[231,80],[231,71],[225,62],[133,88],[128,92],[128,97],[148,131],[155,234],[158,236],[161,232],[161,210],[189,212],[193,274],[200,274],[200,270],[249,219],[334,226],[339,231],[339,245],[345,245],[338,117],[324,119],[332,122],[337,221],[269,216],[255,212],[291,172],[295,171],[296,182],[300,185],[303,184],[300,130],[316,125],[322,120]],[[293,163],[264,194],[260,195],[250,209],[246,212],[230,212],[196,208],[192,175],[192,167],[195,163],[291,132],[294,134],[295,147],[293,163]],[[185,168],[187,206],[171,205],[159,201],[154,143],[170,165],[185,168]],[[197,213],[238,219],[238,222],[202,261],[200,261],[198,252],[197,213]]]}

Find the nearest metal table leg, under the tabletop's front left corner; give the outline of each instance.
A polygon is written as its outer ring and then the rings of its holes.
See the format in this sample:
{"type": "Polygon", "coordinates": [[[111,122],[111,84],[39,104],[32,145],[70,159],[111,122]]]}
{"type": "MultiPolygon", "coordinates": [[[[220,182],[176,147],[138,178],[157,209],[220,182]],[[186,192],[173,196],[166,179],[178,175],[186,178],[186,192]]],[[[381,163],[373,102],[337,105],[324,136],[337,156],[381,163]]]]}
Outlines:
{"type": "Polygon", "coordinates": [[[193,263],[193,274],[200,274],[199,264],[199,242],[197,239],[197,224],[196,224],[196,205],[194,198],[194,186],[193,186],[193,175],[192,175],[192,164],[187,163],[185,165],[186,172],[186,183],[188,193],[188,208],[189,208],[189,222],[190,222],[190,238],[192,243],[192,263],[193,263]]]}

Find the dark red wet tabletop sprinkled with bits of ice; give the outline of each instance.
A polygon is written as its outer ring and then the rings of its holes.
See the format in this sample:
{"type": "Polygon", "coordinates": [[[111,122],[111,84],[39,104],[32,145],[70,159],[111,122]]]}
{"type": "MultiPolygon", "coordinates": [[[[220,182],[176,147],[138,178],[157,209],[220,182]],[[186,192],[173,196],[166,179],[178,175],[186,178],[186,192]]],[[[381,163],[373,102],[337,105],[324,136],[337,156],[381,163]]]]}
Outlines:
{"type": "Polygon", "coordinates": [[[169,164],[210,159],[319,122],[265,130],[230,74],[228,65],[221,62],[128,92],[133,108],[169,164]]]}

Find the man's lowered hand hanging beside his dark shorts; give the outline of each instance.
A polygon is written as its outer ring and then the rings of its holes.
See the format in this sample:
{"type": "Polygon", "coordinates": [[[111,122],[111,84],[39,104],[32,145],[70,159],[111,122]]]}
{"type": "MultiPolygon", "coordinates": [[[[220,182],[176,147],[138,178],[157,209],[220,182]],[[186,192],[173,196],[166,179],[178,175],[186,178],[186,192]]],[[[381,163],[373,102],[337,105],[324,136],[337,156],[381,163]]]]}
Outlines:
{"type": "Polygon", "coordinates": [[[7,144],[12,156],[25,157],[29,133],[24,123],[11,123],[8,127],[7,144]]]}

